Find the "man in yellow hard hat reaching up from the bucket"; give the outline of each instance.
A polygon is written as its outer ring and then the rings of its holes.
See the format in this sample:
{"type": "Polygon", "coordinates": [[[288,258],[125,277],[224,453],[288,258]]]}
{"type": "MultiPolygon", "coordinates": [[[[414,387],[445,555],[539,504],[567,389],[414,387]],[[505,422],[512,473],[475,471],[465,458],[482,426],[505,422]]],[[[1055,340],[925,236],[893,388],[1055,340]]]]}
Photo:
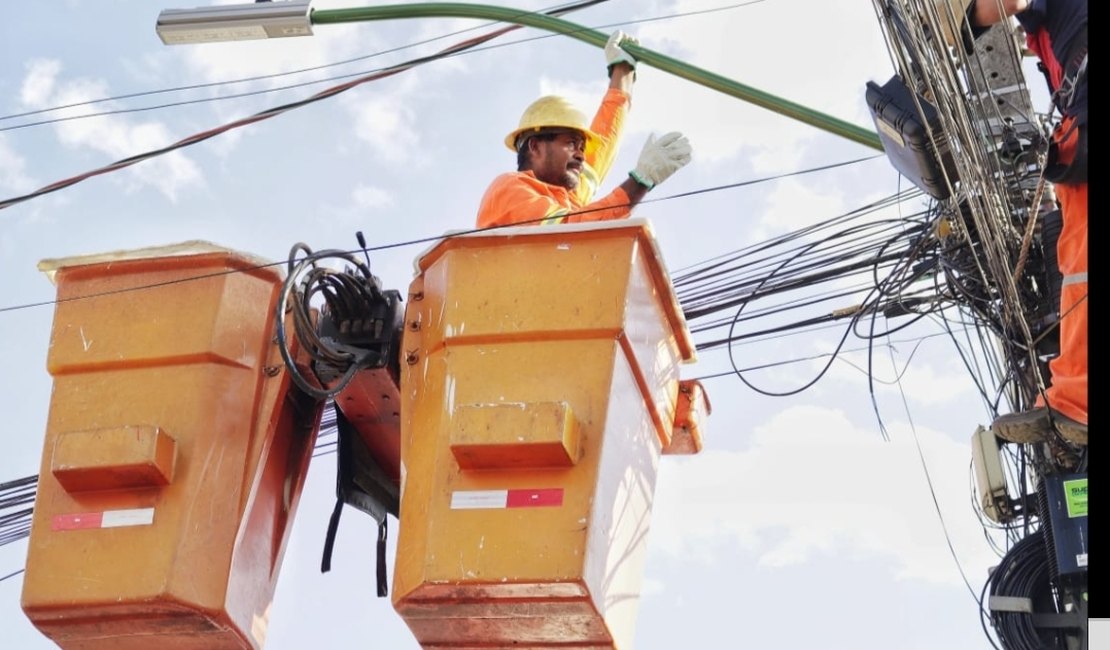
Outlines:
{"type": "Polygon", "coordinates": [[[689,141],[677,132],[649,136],[636,167],[608,195],[593,201],[620,144],[632,104],[636,60],[617,31],[605,45],[609,88],[592,123],[566,99],[539,98],[505,138],[516,153],[517,171],[498,175],[478,209],[478,227],[517,223],[578,223],[624,219],[649,190],[690,161],[689,141]]]}

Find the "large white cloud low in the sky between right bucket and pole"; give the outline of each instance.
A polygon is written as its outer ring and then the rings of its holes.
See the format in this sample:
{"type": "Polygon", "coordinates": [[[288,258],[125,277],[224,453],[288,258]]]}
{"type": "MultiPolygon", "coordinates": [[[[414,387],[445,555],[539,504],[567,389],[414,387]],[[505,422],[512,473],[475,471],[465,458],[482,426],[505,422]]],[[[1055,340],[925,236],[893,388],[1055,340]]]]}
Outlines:
{"type": "MultiPolygon", "coordinates": [[[[724,436],[728,431],[713,431],[724,436]]],[[[889,427],[891,441],[840,412],[798,406],[755,430],[744,451],[712,449],[668,458],[660,470],[652,544],[698,557],[737,545],[768,567],[874,556],[899,579],[959,583],[932,505],[914,434],[889,427]]],[[[968,498],[970,450],[917,430],[948,535],[960,561],[991,558],[968,498]]],[[[708,556],[703,556],[708,560],[708,556]]]]}

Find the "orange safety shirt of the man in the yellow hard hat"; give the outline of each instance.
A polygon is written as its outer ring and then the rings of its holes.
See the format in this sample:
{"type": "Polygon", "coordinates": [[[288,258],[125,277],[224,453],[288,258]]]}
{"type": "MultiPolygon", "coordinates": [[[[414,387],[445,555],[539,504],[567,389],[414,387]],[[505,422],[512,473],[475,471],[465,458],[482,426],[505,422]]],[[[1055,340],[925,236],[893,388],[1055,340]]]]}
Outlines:
{"type": "Polygon", "coordinates": [[[482,197],[477,226],[492,227],[543,219],[544,224],[624,219],[632,214],[628,194],[620,187],[591,203],[613,166],[632,99],[610,88],[602,99],[591,130],[602,136],[596,149],[587,148],[578,186],[571,191],[544,183],[531,171],[509,172],[494,179],[482,197]]]}

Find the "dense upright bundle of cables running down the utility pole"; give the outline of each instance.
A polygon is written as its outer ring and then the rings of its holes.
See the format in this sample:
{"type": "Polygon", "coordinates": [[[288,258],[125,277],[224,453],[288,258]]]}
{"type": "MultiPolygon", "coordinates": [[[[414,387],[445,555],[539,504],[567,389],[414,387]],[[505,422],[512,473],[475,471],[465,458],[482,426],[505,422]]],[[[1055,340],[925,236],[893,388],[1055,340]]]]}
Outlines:
{"type": "Polygon", "coordinates": [[[950,196],[938,203],[950,236],[941,251],[948,287],[1001,347],[993,399],[1012,410],[1043,389],[1043,343],[1057,304],[1045,263],[1052,242],[1039,227],[1054,207],[1042,179],[1048,115],[1032,109],[1017,37],[998,24],[972,38],[962,14],[927,0],[874,0],[888,49],[942,156],[950,196]],[[944,33],[959,34],[949,45],[944,33]]]}

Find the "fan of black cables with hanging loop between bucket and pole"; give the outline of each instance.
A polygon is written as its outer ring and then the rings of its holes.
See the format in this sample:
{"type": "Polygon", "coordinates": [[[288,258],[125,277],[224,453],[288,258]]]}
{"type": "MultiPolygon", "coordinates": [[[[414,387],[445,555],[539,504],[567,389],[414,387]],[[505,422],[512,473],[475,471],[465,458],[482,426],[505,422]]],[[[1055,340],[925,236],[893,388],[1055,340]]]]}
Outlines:
{"type": "Polygon", "coordinates": [[[765,395],[793,395],[825,374],[849,334],[870,345],[922,317],[959,306],[937,285],[935,213],[917,211],[898,219],[876,214],[920,196],[917,190],[899,192],[680,270],[673,282],[698,349],[725,347],[734,374],[749,388],[765,395]],[[726,312],[731,315],[723,315],[726,312]],[[881,327],[880,318],[885,319],[881,327]],[[870,325],[861,326],[866,321],[870,325]],[[755,368],[741,369],[737,364],[735,355],[741,344],[808,335],[837,327],[838,322],[847,325],[828,363],[800,387],[783,392],[757,387],[745,377],[755,368]],[[707,336],[724,328],[724,337],[707,336]]]}

